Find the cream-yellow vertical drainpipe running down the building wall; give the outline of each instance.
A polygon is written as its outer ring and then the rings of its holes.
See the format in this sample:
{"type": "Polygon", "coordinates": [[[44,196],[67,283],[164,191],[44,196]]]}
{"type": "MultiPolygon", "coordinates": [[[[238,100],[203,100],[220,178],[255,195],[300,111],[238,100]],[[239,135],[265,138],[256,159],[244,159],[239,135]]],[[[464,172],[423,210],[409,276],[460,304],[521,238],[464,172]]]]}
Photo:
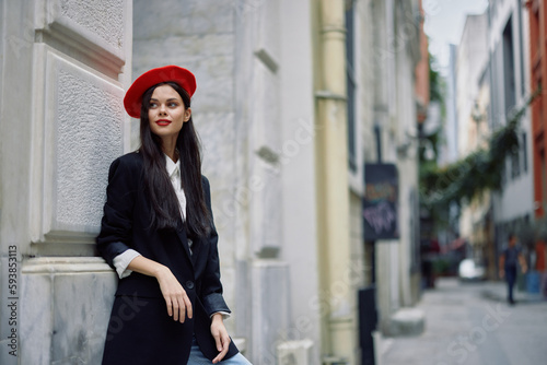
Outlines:
{"type": "MultiPolygon", "coordinates": [[[[345,0],[318,0],[316,170],[323,355],[352,362],[345,0]]],[[[324,357],[325,360],[325,357],[324,357]]]]}

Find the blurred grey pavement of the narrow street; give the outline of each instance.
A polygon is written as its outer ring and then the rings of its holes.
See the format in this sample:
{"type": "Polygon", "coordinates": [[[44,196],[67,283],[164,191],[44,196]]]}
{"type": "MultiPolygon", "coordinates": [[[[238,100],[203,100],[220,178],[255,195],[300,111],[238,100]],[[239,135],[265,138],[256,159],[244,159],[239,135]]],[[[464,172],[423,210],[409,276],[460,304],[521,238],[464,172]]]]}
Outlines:
{"type": "Polygon", "coordinates": [[[538,365],[547,363],[547,301],[516,292],[505,301],[501,282],[441,279],[423,293],[421,335],[384,338],[381,365],[538,365]]]}

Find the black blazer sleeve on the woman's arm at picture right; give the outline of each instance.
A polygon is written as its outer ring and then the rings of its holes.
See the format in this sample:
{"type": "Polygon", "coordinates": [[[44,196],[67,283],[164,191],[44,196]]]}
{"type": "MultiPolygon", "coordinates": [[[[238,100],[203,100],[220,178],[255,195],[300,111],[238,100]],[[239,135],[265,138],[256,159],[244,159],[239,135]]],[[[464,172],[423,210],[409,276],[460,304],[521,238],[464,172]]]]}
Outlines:
{"type": "Polygon", "coordinates": [[[218,311],[231,313],[231,310],[224,302],[224,297],[222,296],[222,283],[220,282],[220,261],[218,249],[219,235],[213,223],[209,180],[203,176],[202,182],[207,209],[211,214],[211,233],[207,238],[209,244],[209,257],[207,259],[207,267],[203,272],[200,296],[207,315],[211,316],[218,311]]]}

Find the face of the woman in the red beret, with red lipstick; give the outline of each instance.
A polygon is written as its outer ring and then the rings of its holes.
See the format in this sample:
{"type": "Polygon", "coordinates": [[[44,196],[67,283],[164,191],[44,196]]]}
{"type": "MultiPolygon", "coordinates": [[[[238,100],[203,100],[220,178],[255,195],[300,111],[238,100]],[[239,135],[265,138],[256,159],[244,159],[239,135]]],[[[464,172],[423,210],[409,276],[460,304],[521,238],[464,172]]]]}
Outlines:
{"type": "Polygon", "coordinates": [[[191,110],[186,108],[181,95],[170,85],[155,87],[150,98],[148,118],[152,133],[162,140],[174,139],[190,118],[191,110]]]}

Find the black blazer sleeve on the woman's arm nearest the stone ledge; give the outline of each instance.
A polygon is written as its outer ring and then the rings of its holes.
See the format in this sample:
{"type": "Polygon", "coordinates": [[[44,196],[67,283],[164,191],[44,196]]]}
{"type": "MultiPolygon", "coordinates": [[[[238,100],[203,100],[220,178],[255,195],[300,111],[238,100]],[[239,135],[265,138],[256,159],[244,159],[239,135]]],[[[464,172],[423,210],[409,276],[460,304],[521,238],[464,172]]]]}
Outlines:
{"type": "Polygon", "coordinates": [[[131,246],[132,210],[139,179],[137,174],[130,162],[123,157],[115,160],[108,170],[106,202],[96,247],[113,269],[114,258],[131,246]]]}

